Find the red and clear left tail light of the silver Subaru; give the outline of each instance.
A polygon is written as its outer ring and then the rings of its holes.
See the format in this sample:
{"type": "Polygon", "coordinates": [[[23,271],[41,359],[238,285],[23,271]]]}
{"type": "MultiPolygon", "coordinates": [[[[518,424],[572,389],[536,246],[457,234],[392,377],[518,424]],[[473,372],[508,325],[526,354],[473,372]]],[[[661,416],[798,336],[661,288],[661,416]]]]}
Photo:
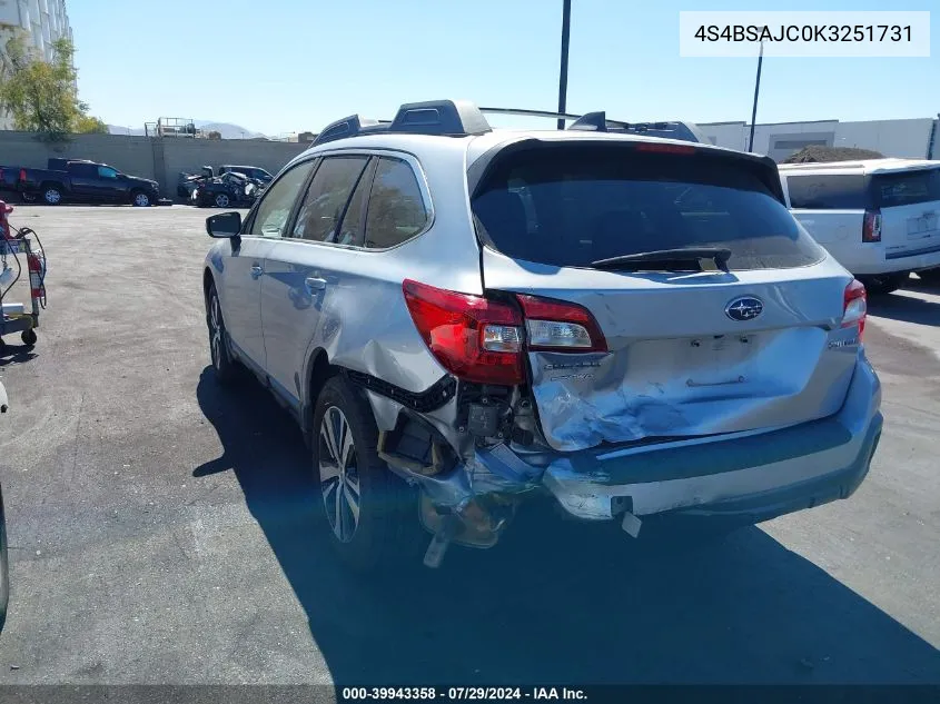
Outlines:
{"type": "Polygon", "coordinates": [[[454,376],[478,384],[525,381],[526,350],[606,351],[591,313],[581,306],[517,296],[508,303],[443,290],[406,279],[405,303],[432,354],[454,376]]]}

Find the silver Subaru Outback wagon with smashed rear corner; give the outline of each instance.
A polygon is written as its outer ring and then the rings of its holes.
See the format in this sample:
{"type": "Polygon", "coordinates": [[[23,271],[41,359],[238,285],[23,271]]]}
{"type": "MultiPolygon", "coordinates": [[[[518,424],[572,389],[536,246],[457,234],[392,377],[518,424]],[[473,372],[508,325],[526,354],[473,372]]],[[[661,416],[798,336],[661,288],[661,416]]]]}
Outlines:
{"type": "Polygon", "coordinates": [[[410,103],[330,125],[207,229],[215,373],[294,414],[358,569],[418,522],[428,566],[489,547],[537,495],[634,537],[754,524],[848,497],[878,445],[864,288],[764,157],[410,103]]]}

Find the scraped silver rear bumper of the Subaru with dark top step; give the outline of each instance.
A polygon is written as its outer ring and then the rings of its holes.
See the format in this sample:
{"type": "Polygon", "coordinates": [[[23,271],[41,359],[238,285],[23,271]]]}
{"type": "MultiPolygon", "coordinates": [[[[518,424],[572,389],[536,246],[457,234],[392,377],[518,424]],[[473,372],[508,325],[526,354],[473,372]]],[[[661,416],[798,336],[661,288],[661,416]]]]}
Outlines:
{"type": "Polygon", "coordinates": [[[664,512],[754,522],[851,495],[881,436],[881,390],[860,357],[842,409],[830,418],[756,434],[697,438],[552,462],[544,486],[567,513],[611,519],[664,512]]]}

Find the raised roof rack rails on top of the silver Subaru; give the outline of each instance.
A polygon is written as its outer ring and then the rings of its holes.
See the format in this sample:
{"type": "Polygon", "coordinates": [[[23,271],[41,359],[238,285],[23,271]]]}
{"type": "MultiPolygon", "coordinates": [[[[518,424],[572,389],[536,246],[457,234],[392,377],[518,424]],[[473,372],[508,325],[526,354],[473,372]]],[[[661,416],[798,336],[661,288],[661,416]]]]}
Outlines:
{"type": "Polygon", "coordinates": [[[317,135],[313,146],[374,132],[447,137],[484,135],[493,129],[484,113],[572,120],[573,123],[567,128],[570,130],[645,135],[709,143],[708,138],[693,122],[622,122],[608,120],[603,111],[573,115],[522,108],[478,108],[466,100],[429,100],[403,105],[393,120],[368,120],[358,115],[336,120],[317,135]]]}

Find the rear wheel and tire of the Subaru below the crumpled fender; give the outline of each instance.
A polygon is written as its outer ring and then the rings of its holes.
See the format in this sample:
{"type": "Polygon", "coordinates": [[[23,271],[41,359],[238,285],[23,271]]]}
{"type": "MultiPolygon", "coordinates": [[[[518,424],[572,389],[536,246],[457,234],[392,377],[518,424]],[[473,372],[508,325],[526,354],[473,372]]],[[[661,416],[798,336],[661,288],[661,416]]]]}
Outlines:
{"type": "Polygon", "coordinates": [[[417,497],[379,459],[372,408],[343,377],[320,391],[310,437],[317,504],[339,558],[358,573],[419,564],[417,497]]]}

